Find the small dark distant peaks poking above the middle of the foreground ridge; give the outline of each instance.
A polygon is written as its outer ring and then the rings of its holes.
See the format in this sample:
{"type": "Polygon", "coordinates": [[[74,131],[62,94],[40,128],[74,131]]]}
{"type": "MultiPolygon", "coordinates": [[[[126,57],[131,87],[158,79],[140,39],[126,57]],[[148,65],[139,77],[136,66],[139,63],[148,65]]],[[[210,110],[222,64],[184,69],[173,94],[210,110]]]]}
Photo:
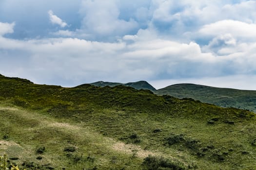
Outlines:
{"type": "Polygon", "coordinates": [[[99,86],[99,87],[104,87],[107,85],[110,87],[114,87],[117,85],[124,85],[124,86],[133,87],[137,90],[139,90],[139,89],[146,89],[146,90],[151,90],[151,91],[157,90],[155,87],[153,87],[146,81],[131,82],[131,83],[126,83],[126,84],[99,81],[99,82],[91,83],[91,85],[95,85],[95,86],[99,86]]]}

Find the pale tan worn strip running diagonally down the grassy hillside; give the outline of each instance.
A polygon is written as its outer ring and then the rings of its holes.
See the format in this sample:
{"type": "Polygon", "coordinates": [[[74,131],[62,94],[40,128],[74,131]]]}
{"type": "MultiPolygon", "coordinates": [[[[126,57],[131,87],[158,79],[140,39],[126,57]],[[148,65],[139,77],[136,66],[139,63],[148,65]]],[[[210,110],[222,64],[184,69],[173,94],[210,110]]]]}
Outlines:
{"type": "MultiPolygon", "coordinates": [[[[48,118],[47,116],[41,115],[39,113],[30,113],[28,111],[14,108],[14,107],[0,107],[0,110],[8,111],[8,113],[13,114],[17,117],[20,117],[22,119],[33,120],[33,121],[37,120],[39,122],[39,124],[28,128],[27,129],[28,131],[40,129],[42,127],[44,127],[44,128],[49,127],[49,128],[57,128],[58,130],[60,130],[64,133],[69,132],[70,134],[75,135],[76,137],[78,137],[80,139],[94,136],[97,138],[98,141],[100,141],[101,143],[104,143],[105,147],[107,147],[111,150],[125,153],[125,154],[131,154],[131,155],[134,154],[135,156],[137,156],[139,158],[145,158],[149,154],[151,154],[151,155],[162,155],[163,154],[163,153],[157,153],[157,152],[143,150],[138,145],[125,144],[125,143],[117,141],[113,138],[101,136],[97,132],[91,130],[90,127],[81,127],[78,124],[59,122],[57,120],[48,118]]],[[[3,150],[7,149],[8,146],[18,146],[19,145],[13,141],[2,141],[2,140],[0,141],[0,144],[2,146],[5,146],[5,147],[1,148],[3,150]]]]}

